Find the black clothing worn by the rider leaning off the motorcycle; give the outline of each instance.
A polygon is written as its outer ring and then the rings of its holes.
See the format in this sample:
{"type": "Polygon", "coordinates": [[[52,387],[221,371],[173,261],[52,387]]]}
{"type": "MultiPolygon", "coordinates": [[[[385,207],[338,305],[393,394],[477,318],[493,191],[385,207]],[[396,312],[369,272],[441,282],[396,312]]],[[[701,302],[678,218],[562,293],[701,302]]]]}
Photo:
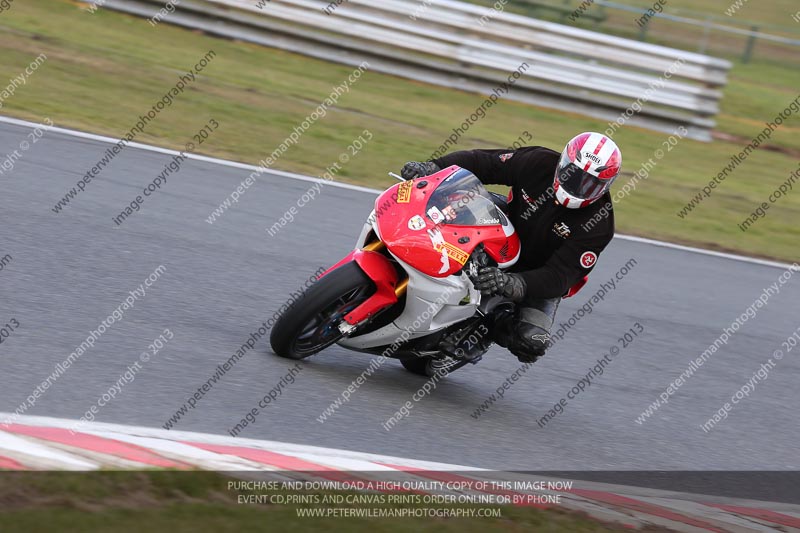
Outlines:
{"type": "Polygon", "coordinates": [[[568,209],[556,201],[553,179],[560,155],[528,146],[513,151],[465,150],[433,160],[440,168],[466,168],[485,184],[511,187],[509,215],[522,252],[509,271],[524,278],[527,291],[513,314],[498,317],[494,340],[522,361],[535,361],[544,354],[561,298],[592,271],[614,236],[609,192],[581,209],[568,209]]]}

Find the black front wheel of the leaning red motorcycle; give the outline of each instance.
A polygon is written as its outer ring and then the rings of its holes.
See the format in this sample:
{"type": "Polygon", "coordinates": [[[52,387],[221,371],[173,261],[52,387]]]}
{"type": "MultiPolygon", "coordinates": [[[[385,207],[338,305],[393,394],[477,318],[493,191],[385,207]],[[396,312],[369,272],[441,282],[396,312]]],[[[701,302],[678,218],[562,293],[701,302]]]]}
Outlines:
{"type": "Polygon", "coordinates": [[[305,359],[342,338],[339,323],[372,293],[375,284],[356,263],[345,263],[311,285],[278,318],[269,342],[275,354],[305,359]]]}

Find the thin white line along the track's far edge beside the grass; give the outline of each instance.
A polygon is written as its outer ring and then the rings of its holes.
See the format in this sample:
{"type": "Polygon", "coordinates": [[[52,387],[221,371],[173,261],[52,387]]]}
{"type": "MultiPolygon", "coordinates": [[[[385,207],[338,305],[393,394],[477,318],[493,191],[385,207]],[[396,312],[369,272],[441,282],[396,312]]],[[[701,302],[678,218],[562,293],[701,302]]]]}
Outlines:
{"type": "MultiPolygon", "coordinates": [[[[16,126],[25,126],[25,127],[29,127],[29,128],[35,128],[35,127],[41,126],[41,124],[37,124],[35,122],[30,122],[30,121],[27,121],[27,120],[20,120],[20,119],[11,118],[11,117],[4,117],[4,116],[0,116],[0,123],[13,124],[13,125],[16,125],[16,126]]],[[[61,127],[58,127],[58,126],[50,127],[50,128],[48,128],[48,131],[55,131],[55,132],[58,132],[58,133],[62,133],[64,135],[69,135],[71,137],[77,137],[77,138],[80,138],[80,139],[89,139],[89,140],[92,140],[92,141],[99,141],[99,142],[104,142],[104,143],[109,143],[109,144],[116,144],[117,142],[119,142],[119,139],[115,139],[113,137],[107,137],[105,135],[97,135],[97,134],[94,134],[94,133],[86,133],[84,131],[72,130],[72,129],[68,129],[68,128],[61,128],[61,127]]],[[[142,144],[142,143],[137,143],[137,142],[128,143],[128,146],[130,146],[132,148],[138,148],[139,150],[146,150],[146,151],[149,151],[149,152],[157,152],[157,153],[160,153],[160,154],[178,155],[180,153],[178,150],[172,150],[170,148],[161,148],[160,146],[153,146],[153,145],[150,145],[150,144],[142,144]]],[[[232,167],[232,168],[240,168],[240,169],[243,169],[243,170],[254,171],[254,170],[259,170],[261,168],[261,167],[256,166],[256,165],[248,165],[247,163],[239,163],[237,161],[228,161],[226,159],[218,159],[216,157],[208,157],[208,156],[204,156],[204,155],[188,154],[186,157],[188,157],[189,159],[197,160],[197,161],[203,161],[205,163],[212,163],[212,164],[215,164],[215,165],[222,165],[222,166],[232,167]]],[[[334,187],[339,187],[339,188],[342,188],[342,189],[350,189],[350,190],[353,190],[353,191],[365,192],[365,193],[369,193],[369,194],[380,194],[381,192],[383,192],[382,190],[373,189],[373,188],[370,188],[370,187],[361,187],[359,185],[351,185],[349,183],[341,183],[341,182],[338,182],[338,181],[327,181],[327,180],[323,180],[322,178],[314,178],[312,176],[304,176],[302,174],[296,174],[294,172],[286,172],[286,171],[283,171],[283,170],[269,169],[267,172],[269,174],[280,176],[282,178],[288,178],[288,179],[294,179],[294,180],[300,180],[300,181],[309,181],[309,182],[313,182],[313,183],[326,183],[326,184],[332,185],[334,187]]],[[[755,264],[755,265],[768,266],[768,267],[774,267],[774,268],[781,268],[783,270],[787,270],[791,266],[789,263],[781,263],[779,261],[769,261],[767,259],[758,259],[756,257],[747,257],[747,256],[743,256],[743,255],[730,254],[730,253],[725,253],[725,252],[717,252],[717,251],[714,251],[714,250],[705,250],[703,248],[695,248],[693,246],[684,246],[682,244],[675,244],[675,243],[666,242],[666,241],[657,241],[657,240],[654,240],[654,239],[647,239],[647,238],[644,238],[644,237],[636,237],[636,236],[633,236],[633,235],[620,235],[620,234],[617,234],[617,235],[615,235],[615,238],[626,240],[626,241],[643,243],[643,244],[650,244],[650,245],[659,246],[659,247],[662,247],[662,248],[672,248],[673,250],[681,250],[681,251],[684,251],[684,252],[691,252],[691,253],[702,254],[702,255],[710,255],[710,256],[713,256],[713,257],[720,257],[720,258],[723,258],[723,259],[731,259],[733,261],[741,261],[741,262],[744,262],[744,263],[751,263],[751,264],[755,264]]]]}

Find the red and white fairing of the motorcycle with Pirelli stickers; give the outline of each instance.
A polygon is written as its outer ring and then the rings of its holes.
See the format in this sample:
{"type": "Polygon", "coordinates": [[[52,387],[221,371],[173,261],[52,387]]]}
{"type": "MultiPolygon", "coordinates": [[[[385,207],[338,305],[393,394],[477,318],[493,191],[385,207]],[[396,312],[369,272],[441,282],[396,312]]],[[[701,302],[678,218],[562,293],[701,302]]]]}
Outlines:
{"type": "Polygon", "coordinates": [[[356,350],[424,337],[473,317],[481,294],[464,266],[475,248],[483,244],[500,268],[516,263],[521,252],[513,225],[468,170],[451,166],[398,183],[378,197],[356,249],[336,265],[355,261],[375,282],[375,294],[344,317],[352,327],[397,302],[398,279],[389,259],[362,250],[374,236],[408,275],[408,285],[400,316],[339,341],[356,350]]]}

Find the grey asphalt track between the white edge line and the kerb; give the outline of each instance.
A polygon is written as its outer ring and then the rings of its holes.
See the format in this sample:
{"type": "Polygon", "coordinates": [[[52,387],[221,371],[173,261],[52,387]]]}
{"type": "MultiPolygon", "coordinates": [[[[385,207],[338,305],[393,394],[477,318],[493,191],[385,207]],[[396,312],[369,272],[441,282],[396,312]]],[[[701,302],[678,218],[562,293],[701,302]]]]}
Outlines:
{"type": "MultiPolygon", "coordinates": [[[[28,131],[0,125],[0,155],[17,148],[28,131]]],[[[211,225],[206,218],[250,171],[190,160],[117,227],[112,217],[171,159],[129,147],[54,213],[53,205],[108,146],[49,132],[0,177],[0,256],[13,257],[0,271],[0,323],[16,318],[21,324],[0,346],[0,411],[24,402],[163,264],[165,273],[147,295],[27,413],[79,418],[169,328],[175,338],[97,417],[162,427],[291,291],[351,249],[374,198],[326,186],[294,223],[270,237],[265,229],[311,184],[263,175],[211,225]]],[[[727,420],[709,433],[700,428],[800,326],[800,276],[639,425],[639,414],[783,269],[615,239],[589,285],[562,304],[559,321],[630,258],[637,265],[618,288],[479,419],[471,413],[520,366],[499,348],[439,382],[391,431],[383,422],[425,383],[396,361],[320,423],[317,417],[370,361],[333,347],[303,363],[295,383],[239,436],[498,470],[800,468],[800,348],[727,420]],[[539,427],[536,420],[635,322],[645,333],[562,414],[539,427]]],[[[227,434],[292,364],[271,353],[265,336],[175,427],[227,434]]],[[[743,496],[753,494],[745,490],[743,496]]]]}

